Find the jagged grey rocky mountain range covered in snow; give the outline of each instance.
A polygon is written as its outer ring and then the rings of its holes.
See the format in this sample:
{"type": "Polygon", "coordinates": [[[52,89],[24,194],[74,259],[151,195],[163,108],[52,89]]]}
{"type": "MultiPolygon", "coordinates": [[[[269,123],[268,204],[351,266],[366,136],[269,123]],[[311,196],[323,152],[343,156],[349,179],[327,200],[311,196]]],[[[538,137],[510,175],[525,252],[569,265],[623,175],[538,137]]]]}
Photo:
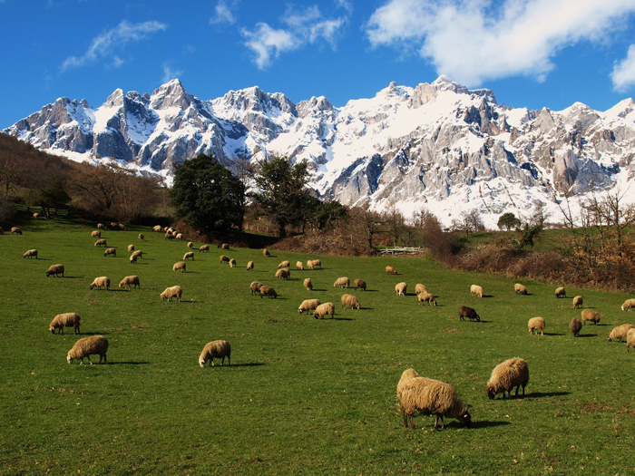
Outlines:
{"type": "Polygon", "coordinates": [[[391,83],[341,108],[258,87],[202,101],[173,80],[151,95],[118,89],[98,108],[60,98],[3,132],[73,160],[114,158],[168,179],[199,153],[308,160],[311,187],[326,199],[396,205],[406,217],[426,207],[446,224],[479,209],[494,228],[503,211],[526,217],[540,206],[560,220],[556,197],[615,186],[635,202],[632,100],[606,112],[579,102],[529,111],[445,77],[391,83]]]}

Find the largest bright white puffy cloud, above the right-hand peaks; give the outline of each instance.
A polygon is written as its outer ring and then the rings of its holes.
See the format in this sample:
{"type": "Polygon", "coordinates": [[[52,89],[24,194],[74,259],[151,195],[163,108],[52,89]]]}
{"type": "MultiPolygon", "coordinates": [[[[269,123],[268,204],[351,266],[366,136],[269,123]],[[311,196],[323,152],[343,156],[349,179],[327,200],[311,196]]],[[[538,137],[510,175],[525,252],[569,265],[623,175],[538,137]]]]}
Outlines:
{"type": "Polygon", "coordinates": [[[605,36],[632,0],[389,0],[366,24],[370,43],[415,50],[469,86],[516,74],[542,81],[562,48],[605,36]]]}

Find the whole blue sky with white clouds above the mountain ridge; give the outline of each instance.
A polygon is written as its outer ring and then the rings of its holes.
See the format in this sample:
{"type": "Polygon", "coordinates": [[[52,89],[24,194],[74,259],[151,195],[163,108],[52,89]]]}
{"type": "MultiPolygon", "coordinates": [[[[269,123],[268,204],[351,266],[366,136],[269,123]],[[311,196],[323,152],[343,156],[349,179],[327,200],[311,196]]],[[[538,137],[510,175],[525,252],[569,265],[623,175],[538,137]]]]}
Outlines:
{"type": "Polygon", "coordinates": [[[635,0],[0,0],[0,46],[0,128],[176,77],[336,106],[440,74],[531,109],[635,95],[635,0]]]}

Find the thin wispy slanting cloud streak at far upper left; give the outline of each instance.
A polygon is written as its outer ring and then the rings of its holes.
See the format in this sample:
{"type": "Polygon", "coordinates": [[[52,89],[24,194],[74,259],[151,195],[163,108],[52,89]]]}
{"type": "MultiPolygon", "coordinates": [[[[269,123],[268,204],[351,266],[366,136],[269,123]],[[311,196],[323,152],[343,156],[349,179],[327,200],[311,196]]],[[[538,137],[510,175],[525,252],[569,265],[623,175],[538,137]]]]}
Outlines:
{"type": "Polygon", "coordinates": [[[127,43],[145,40],[151,34],[164,31],[167,27],[167,24],[154,21],[130,24],[124,20],[111,30],[93,38],[88,50],[82,56],[66,58],[60,70],[64,72],[70,68],[80,68],[86,63],[93,63],[98,58],[111,58],[112,66],[119,67],[123,62],[114,54],[114,51],[121,50],[127,43]]]}

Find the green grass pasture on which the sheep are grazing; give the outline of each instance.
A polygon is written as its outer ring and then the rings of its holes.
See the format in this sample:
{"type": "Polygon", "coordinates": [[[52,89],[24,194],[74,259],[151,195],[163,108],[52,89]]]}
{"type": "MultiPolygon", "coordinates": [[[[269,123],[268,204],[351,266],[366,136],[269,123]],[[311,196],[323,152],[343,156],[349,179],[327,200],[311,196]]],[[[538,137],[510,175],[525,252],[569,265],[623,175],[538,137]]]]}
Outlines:
{"type": "MultiPolygon", "coordinates": [[[[94,224],[27,221],[24,235],[0,236],[3,368],[0,411],[2,474],[632,474],[635,471],[635,354],[607,342],[612,327],[631,322],[627,297],[448,270],[421,257],[330,257],[230,249],[196,253],[188,272],[171,267],[188,251],[148,228],[105,231],[117,257],[93,247],[94,224]],[[140,241],[142,231],[145,239],[140,241]],[[130,264],[126,247],[146,255],[130,264]],[[24,259],[37,248],[40,259],[24,259]],[[296,271],[297,260],[321,258],[323,269],[296,271]],[[247,271],[250,259],[255,269],[247,271]],[[274,278],[291,261],[291,279],[274,278]],[[63,263],[64,278],[46,277],[63,263]],[[397,276],[387,276],[386,265],[397,276]],[[120,290],[138,275],[141,289],[120,290]],[[91,290],[108,276],[110,291],[91,290]],[[363,278],[366,292],[333,288],[337,277],[363,278]],[[302,287],[311,277],[314,291],[302,287]],[[251,296],[258,280],[277,299],[251,296]],[[395,285],[408,284],[396,296],[395,285]],[[425,284],[439,306],[418,306],[425,284]],[[470,285],[484,287],[483,298],[470,285]],[[183,301],[161,301],[180,285],[183,301]],[[361,310],[342,310],[340,296],[361,310]],[[572,296],[601,313],[574,339],[580,316],[572,296]],[[303,299],[336,305],[334,319],[298,315],[303,299]],[[483,321],[459,321],[458,306],[483,321]],[[56,314],[82,316],[82,336],[110,341],[108,364],[66,363],[80,336],[51,335],[56,314]],[[529,335],[530,317],[544,317],[544,336],[529,335]],[[226,339],[231,365],[198,364],[206,343],[226,339]],[[493,367],[523,357],[530,368],[524,398],[487,399],[493,367]],[[405,429],[396,384],[409,367],[453,384],[471,405],[473,426],[418,415],[405,429]]],[[[196,244],[194,248],[198,248],[196,244]]],[[[94,356],[93,360],[99,360],[94,356]]]]}

